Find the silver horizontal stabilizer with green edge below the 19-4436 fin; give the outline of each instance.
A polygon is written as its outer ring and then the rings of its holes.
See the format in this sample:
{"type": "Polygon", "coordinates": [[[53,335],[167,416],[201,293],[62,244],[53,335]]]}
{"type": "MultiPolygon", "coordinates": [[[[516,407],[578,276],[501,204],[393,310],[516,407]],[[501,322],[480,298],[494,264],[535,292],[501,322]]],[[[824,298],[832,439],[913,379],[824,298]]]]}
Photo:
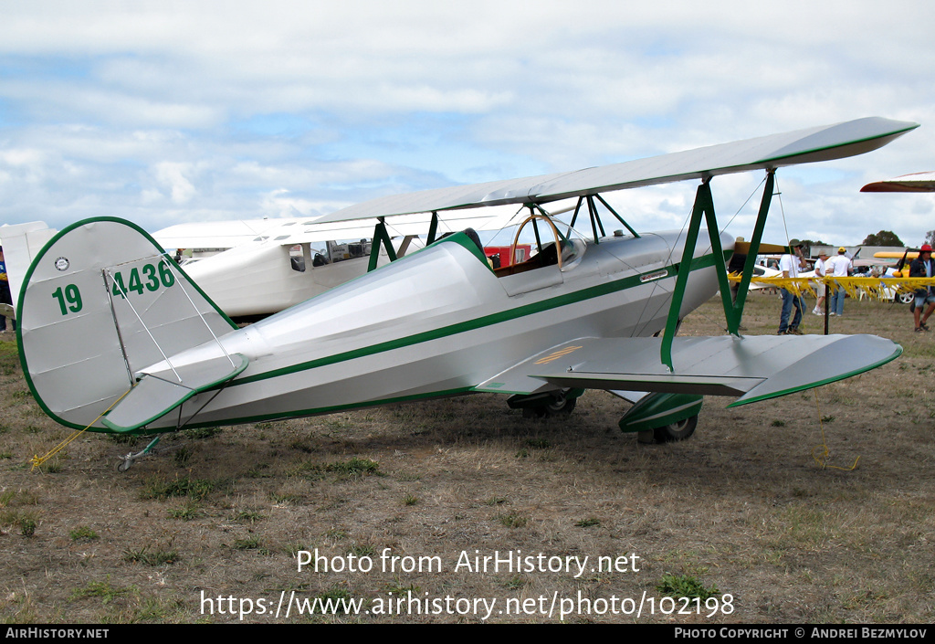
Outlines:
{"type": "Polygon", "coordinates": [[[151,374],[144,375],[137,386],[119,402],[103,422],[115,432],[132,432],[164,417],[195,394],[214,388],[247,368],[248,360],[240,354],[178,367],[175,382],[151,374]],[[232,364],[233,360],[233,364],[232,364]]]}

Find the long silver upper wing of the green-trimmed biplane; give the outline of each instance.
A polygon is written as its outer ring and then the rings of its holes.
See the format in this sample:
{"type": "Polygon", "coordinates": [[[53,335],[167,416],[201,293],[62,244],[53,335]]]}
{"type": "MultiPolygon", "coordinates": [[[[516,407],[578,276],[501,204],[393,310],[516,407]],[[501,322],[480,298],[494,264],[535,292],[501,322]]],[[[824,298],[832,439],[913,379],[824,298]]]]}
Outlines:
{"type": "Polygon", "coordinates": [[[858,119],[611,166],[371,199],[324,215],[318,221],[351,221],[529,201],[547,203],[656,183],[828,161],[876,150],[916,127],[918,124],[877,117],[858,119]]]}

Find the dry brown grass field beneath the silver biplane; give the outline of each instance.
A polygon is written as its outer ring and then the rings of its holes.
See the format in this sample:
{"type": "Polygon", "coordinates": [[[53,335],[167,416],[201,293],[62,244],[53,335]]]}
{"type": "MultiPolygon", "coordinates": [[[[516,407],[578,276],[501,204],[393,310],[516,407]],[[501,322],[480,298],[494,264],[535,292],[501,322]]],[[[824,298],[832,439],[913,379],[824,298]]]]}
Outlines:
{"type": "MultiPolygon", "coordinates": [[[[751,295],[746,332],[774,333],[779,308],[751,295]]],[[[620,432],[627,403],[604,392],[546,421],[477,395],[184,432],[123,474],[145,443],[91,433],[31,470],[69,432],[7,334],[0,620],[931,622],[935,332],[895,304],[845,314],[831,332],[891,338],[902,357],[736,409],[709,398],[682,443],[620,432]],[[298,570],[316,549],[328,571],[298,570]],[[497,551],[535,559],[475,569],[497,551]],[[698,600],[665,599],[682,595],[698,600]]],[[[722,319],[712,300],[681,333],[722,319]]]]}

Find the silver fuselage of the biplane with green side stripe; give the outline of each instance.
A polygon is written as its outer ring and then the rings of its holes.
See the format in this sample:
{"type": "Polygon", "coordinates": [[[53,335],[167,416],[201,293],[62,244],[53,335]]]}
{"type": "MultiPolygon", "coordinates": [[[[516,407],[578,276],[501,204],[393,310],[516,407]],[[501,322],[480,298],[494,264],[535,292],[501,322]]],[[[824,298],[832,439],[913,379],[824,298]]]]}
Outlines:
{"type": "MultiPolygon", "coordinates": [[[[179,418],[188,426],[253,422],[456,395],[574,338],[652,336],[669,314],[683,239],[670,232],[578,241],[562,269],[497,276],[466,236],[453,236],[224,335],[224,351],[250,366],[220,393],[199,394],[180,417],[151,428],[179,418]]],[[[731,238],[722,235],[722,244],[729,254],[731,238]]],[[[714,266],[725,261],[696,251],[680,316],[716,293],[714,266]]],[[[208,343],[171,361],[218,354],[208,343]]],[[[165,370],[160,363],[142,371],[165,370]]]]}

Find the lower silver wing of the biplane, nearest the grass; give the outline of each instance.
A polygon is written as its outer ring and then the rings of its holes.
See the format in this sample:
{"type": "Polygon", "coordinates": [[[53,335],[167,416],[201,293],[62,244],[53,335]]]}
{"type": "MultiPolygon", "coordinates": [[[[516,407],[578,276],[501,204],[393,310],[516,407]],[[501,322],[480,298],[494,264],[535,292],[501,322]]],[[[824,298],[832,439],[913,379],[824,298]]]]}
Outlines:
{"type": "Polygon", "coordinates": [[[902,347],[875,335],[757,335],[675,338],[672,362],[661,338],[579,338],[551,347],[479,385],[479,391],[631,389],[741,396],[733,405],[784,396],[870,371],[902,347]],[[543,382],[545,385],[543,385],[543,382]]]}

